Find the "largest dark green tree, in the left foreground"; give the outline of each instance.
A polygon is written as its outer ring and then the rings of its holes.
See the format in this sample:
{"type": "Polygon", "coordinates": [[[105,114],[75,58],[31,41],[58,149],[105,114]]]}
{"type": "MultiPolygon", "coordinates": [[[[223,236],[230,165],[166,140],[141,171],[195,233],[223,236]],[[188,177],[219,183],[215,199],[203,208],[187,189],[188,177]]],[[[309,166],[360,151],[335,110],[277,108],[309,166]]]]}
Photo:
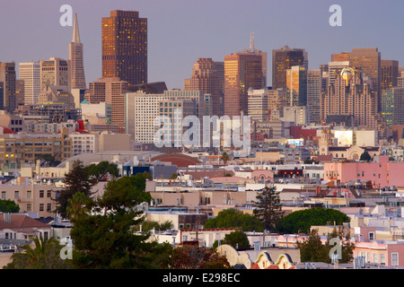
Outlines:
{"type": "Polygon", "coordinates": [[[75,196],[69,204],[82,205],[83,198],[85,212],[71,214],[73,259],[78,268],[167,267],[171,245],[146,242],[148,234],[135,233],[136,225],[144,220],[137,207],[151,200],[142,174],[111,180],[102,196],[75,196]]]}

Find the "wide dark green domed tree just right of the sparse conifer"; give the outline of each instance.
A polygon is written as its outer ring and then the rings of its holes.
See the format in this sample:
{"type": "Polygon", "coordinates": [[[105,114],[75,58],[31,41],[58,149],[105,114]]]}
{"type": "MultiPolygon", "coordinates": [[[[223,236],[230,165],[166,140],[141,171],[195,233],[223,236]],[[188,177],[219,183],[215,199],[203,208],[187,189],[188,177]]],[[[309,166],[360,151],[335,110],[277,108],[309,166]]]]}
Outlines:
{"type": "Polygon", "coordinates": [[[343,222],[349,222],[349,217],[347,214],[332,208],[314,207],[287,214],[278,222],[277,231],[281,233],[309,233],[312,225],[326,225],[327,222],[341,225],[343,222]]]}

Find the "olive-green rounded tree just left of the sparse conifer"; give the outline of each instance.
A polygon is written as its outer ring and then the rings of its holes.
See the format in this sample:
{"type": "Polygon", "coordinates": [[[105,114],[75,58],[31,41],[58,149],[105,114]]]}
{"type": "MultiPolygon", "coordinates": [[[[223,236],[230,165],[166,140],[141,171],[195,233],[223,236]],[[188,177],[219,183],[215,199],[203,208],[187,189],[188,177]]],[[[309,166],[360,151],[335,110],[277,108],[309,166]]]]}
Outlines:
{"type": "Polygon", "coordinates": [[[242,228],[243,231],[263,231],[262,224],[258,219],[252,217],[249,213],[229,208],[224,209],[217,214],[215,218],[209,218],[205,228],[242,228]]]}

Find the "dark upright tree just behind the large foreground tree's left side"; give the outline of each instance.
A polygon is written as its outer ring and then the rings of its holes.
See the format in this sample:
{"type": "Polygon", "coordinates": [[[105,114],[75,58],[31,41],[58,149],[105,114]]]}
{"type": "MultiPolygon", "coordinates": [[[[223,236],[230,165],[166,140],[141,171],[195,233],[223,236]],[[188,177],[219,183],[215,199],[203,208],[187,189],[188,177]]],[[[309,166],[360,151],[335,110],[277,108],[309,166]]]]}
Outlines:
{"type": "Polygon", "coordinates": [[[95,185],[96,179],[90,178],[88,170],[84,168],[82,161],[73,161],[73,168],[65,175],[66,188],[63,189],[56,197],[56,213],[66,218],[66,208],[68,200],[80,192],[84,196],[92,195],[92,187],[95,185]]]}

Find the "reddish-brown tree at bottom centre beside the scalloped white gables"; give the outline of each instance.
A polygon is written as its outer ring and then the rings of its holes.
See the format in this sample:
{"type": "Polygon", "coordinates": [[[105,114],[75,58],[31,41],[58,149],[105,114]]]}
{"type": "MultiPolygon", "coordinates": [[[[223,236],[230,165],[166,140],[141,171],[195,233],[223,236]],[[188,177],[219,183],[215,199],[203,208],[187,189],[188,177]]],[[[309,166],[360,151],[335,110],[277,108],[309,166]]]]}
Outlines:
{"type": "Polygon", "coordinates": [[[174,248],[170,258],[171,269],[229,269],[226,257],[213,248],[184,245],[174,248]]]}

